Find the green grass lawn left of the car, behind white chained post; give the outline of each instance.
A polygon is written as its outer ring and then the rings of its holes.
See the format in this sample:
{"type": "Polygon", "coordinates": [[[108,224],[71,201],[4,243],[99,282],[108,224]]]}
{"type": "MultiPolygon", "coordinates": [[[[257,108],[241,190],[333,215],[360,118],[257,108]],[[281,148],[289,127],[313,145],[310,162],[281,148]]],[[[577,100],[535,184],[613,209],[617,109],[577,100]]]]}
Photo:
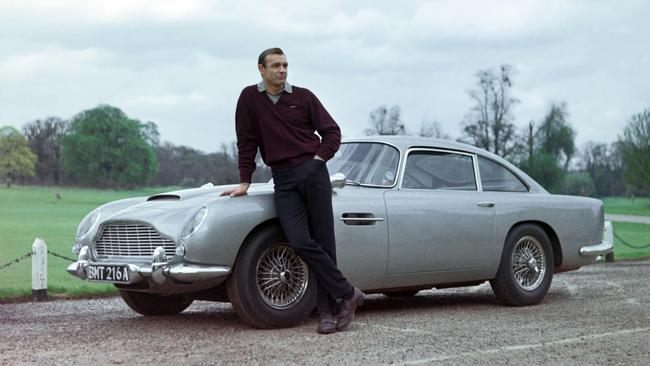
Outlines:
{"type": "MultiPolygon", "coordinates": [[[[70,249],[77,225],[97,206],[109,201],[147,196],[175,188],[102,191],[61,187],[0,188],[0,265],[31,251],[35,238],[50,251],[76,258],[70,249]],[[58,193],[61,199],[56,198],[58,193]]],[[[92,284],[70,276],[64,259],[48,256],[48,293],[80,296],[116,293],[112,285],[92,284]]],[[[0,299],[31,295],[31,258],[0,270],[0,299]]]]}

